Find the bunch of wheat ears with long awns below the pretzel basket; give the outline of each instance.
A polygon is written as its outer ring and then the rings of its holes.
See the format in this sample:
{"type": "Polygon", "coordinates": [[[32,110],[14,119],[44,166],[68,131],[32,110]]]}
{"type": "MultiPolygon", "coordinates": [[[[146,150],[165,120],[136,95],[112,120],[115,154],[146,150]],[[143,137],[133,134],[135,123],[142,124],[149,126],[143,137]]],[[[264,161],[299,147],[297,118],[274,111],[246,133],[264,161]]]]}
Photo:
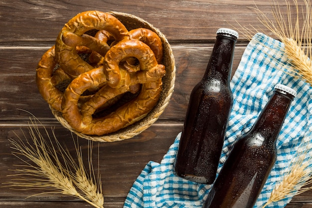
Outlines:
{"type": "MultiPolygon", "coordinates": [[[[103,208],[104,199],[101,194],[101,182],[98,181],[95,185],[95,177],[92,179],[87,177],[79,145],[75,143],[77,164],[68,149],[63,148],[56,139],[54,129],[52,129],[52,135],[56,147],[53,146],[52,138],[47,129],[35,117],[30,119],[28,125],[31,142],[27,140],[24,133],[25,141],[17,134],[15,134],[18,138],[17,141],[10,139],[12,154],[23,161],[25,165],[20,165],[19,167],[22,167],[20,169],[12,170],[17,174],[9,176],[18,178],[4,183],[8,184],[6,187],[22,190],[49,190],[49,192],[41,194],[61,193],[79,198],[96,208],[103,208]],[[46,138],[39,131],[39,126],[44,128],[46,138]],[[72,169],[75,173],[72,172],[72,169]]],[[[92,151],[90,152],[92,153],[92,151]]],[[[89,155],[88,162],[90,170],[93,169],[91,155],[89,155]]]]}

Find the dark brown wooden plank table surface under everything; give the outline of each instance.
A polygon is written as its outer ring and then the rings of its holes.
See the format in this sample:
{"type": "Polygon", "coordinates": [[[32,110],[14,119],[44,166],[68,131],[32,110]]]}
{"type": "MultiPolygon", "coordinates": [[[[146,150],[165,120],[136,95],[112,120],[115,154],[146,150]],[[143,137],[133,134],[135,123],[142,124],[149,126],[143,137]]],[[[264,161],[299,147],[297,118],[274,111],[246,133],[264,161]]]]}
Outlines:
{"type": "MultiPolygon", "coordinates": [[[[286,9],[285,0],[275,0],[286,9]]],[[[292,0],[290,1],[293,3],[292,0]]],[[[170,103],[155,124],[130,140],[99,144],[104,207],[121,208],[134,181],[149,161],[160,162],[181,131],[191,89],[201,79],[219,27],[262,26],[251,7],[271,15],[273,0],[1,0],[0,1],[0,183],[22,164],[8,139],[28,132],[29,111],[73,149],[71,134],[53,117],[38,92],[35,68],[54,44],[63,25],[85,10],[134,14],[157,27],[175,57],[176,81],[170,103]]],[[[299,5],[304,5],[300,0],[299,5]]],[[[292,9],[294,7],[292,6],[292,9]]],[[[294,10],[295,11],[295,10],[294,10]]],[[[267,34],[272,35],[264,29],[267,34]]],[[[272,35],[273,36],[273,35],[272,35]]],[[[274,36],[273,36],[274,37],[274,36]]],[[[240,33],[233,73],[248,41],[240,33]]],[[[87,140],[81,139],[83,151],[87,140]]],[[[0,188],[0,208],[83,208],[88,204],[60,194],[0,188]]],[[[293,198],[287,208],[312,208],[312,191],[293,198]]]]}

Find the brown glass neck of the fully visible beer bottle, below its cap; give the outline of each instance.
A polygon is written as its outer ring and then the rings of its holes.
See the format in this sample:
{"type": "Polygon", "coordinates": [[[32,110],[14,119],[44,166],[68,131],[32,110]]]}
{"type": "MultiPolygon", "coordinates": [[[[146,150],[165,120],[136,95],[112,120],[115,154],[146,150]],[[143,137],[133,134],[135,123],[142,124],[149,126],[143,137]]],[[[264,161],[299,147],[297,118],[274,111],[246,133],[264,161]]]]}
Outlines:
{"type": "Polygon", "coordinates": [[[223,79],[224,82],[230,81],[235,44],[234,36],[217,35],[203,79],[215,77],[223,79]]]}

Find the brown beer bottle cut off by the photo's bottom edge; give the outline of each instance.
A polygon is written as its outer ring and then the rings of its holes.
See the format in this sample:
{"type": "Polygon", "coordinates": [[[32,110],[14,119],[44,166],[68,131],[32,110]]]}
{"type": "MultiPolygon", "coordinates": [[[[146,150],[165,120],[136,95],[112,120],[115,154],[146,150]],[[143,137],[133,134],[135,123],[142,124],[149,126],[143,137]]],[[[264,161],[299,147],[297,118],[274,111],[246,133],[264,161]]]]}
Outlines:
{"type": "Polygon", "coordinates": [[[250,131],[238,139],[203,208],[253,208],[276,162],[276,141],[296,92],[278,84],[250,131]]]}

